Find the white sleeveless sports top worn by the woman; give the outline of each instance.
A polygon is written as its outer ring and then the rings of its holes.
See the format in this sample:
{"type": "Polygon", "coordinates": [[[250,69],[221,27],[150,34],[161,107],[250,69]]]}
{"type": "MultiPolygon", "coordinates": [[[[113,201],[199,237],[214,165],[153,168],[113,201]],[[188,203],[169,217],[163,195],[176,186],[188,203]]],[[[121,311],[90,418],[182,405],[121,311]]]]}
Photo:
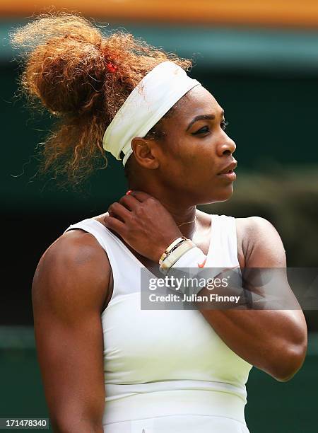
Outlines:
{"type": "MultiPolygon", "coordinates": [[[[211,224],[205,267],[239,265],[235,218],[211,215],[211,224]]],[[[113,294],[101,316],[103,424],[172,415],[228,417],[245,424],[252,365],[225,345],[199,310],[141,310],[144,266],[102,223],[84,219],[66,231],[71,229],[95,236],[112,267],[113,294]]]]}

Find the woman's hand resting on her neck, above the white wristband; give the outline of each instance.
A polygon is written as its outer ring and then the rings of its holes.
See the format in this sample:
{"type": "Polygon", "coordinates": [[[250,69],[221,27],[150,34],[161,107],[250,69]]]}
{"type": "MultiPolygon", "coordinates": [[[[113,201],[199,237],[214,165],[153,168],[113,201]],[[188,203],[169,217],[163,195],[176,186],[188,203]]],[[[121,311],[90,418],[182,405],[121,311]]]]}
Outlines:
{"type": "Polygon", "coordinates": [[[182,236],[170,212],[146,192],[133,191],[108,208],[104,223],[131,248],[158,262],[170,243],[182,236]]]}

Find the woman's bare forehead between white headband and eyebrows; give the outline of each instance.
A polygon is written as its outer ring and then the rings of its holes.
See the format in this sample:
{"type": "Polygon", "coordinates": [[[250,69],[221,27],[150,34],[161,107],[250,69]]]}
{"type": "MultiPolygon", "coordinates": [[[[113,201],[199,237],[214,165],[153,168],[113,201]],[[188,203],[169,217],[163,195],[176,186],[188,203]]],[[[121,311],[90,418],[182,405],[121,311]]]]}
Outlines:
{"type": "Polygon", "coordinates": [[[216,98],[203,86],[195,86],[179,100],[175,115],[179,120],[192,120],[193,117],[203,114],[220,115],[222,107],[216,98]]]}

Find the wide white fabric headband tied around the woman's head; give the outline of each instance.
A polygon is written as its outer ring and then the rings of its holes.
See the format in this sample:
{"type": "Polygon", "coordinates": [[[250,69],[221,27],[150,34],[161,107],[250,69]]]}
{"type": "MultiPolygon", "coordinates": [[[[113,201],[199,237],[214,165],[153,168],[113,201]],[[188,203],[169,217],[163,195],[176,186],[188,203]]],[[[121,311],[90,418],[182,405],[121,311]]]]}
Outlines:
{"type": "Polygon", "coordinates": [[[162,62],[153,68],[130,93],[107,127],[102,147],[116,159],[123,151],[125,166],[133,153],[131,140],[145,137],[148,131],[199,81],[187,76],[177,64],[162,62]]]}

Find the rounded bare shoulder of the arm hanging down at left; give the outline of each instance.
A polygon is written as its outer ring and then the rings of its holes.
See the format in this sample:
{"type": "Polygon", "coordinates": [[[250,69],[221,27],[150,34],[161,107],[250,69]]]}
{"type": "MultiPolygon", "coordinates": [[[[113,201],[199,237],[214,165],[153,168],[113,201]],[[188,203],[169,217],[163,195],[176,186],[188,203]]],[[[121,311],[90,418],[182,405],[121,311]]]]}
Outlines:
{"type": "Polygon", "coordinates": [[[102,310],[109,281],[110,263],[95,237],[78,229],[67,231],[40,258],[33,278],[33,306],[67,311],[75,302],[102,310]]]}

